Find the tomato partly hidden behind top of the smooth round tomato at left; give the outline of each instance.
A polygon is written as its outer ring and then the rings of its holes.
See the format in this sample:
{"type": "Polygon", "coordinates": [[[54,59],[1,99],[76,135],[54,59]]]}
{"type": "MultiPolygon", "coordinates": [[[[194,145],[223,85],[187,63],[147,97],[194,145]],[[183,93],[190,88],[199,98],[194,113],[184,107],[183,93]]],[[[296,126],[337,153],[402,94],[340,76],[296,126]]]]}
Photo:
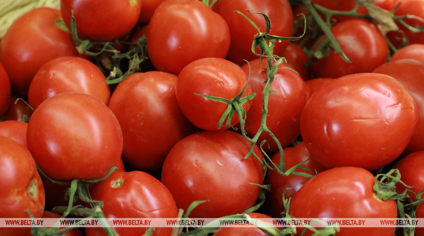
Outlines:
{"type": "Polygon", "coordinates": [[[111,96],[106,77],[96,65],[80,57],[64,56],[39,68],[29,86],[28,101],[36,109],[44,100],[64,92],[85,93],[106,105],[111,96]]]}

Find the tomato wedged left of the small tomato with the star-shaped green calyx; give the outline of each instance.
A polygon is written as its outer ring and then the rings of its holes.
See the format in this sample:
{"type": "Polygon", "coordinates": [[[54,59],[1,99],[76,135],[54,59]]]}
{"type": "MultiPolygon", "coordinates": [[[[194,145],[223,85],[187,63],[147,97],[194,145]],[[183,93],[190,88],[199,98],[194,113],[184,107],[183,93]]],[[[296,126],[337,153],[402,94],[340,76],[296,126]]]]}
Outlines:
{"type": "Polygon", "coordinates": [[[112,94],[109,108],[122,129],[123,158],[138,169],[160,169],[171,148],[194,133],[178,106],[176,82],[166,72],[134,73],[112,94]]]}

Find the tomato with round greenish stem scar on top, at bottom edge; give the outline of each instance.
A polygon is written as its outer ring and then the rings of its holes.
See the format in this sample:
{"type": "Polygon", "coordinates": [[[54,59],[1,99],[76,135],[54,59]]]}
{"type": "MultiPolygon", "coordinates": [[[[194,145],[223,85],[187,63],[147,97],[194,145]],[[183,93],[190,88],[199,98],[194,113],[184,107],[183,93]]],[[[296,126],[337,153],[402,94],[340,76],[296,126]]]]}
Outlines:
{"type": "MultiPolygon", "coordinates": [[[[170,191],[142,171],[115,171],[90,191],[92,199],[103,201],[106,218],[176,218],[177,206],[170,191]]],[[[143,235],[148,227],[116,227],[120,236],[143,235]]],[[[87,236],[106,235],[102,228],[85,228],[87,236]]],[[[171,235],[172,228],[156,228],[153,235],[171,235]]]]}

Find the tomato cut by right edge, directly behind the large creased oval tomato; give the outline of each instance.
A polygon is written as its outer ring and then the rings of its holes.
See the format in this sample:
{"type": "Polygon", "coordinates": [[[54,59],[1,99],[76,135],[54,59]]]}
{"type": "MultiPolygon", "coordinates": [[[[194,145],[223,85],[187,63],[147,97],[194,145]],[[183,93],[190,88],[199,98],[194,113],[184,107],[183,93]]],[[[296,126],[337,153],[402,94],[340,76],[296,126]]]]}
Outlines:
{"type": "Polygon", "coordinates": [[[389,61],[374,70],[398,80],[414,99],[418,110],[418,122],[405,152],[424,150],[424,63],[413,59],[389,61]]]}

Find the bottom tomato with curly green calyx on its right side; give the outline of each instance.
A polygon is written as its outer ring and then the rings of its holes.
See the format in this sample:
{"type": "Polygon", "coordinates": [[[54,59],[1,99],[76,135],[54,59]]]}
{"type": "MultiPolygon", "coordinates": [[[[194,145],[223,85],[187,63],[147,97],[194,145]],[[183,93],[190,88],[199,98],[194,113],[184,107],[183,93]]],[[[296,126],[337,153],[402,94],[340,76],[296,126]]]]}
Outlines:
{"type": "MultiPolygon", "coordinates": [[[[295,218],[397,218],[395,200],[381,200],[373,191],[374,175],[358,167],[321,172],[306,182],[290,202],[295,218]]],[[[393,236],[396,227],[341,227],[337,236],[393,236]]],[[[297,229],[300,235],[303,228],[297,229]]],[[[305,236],[312,235],[307,230],[305,236]]]]}

